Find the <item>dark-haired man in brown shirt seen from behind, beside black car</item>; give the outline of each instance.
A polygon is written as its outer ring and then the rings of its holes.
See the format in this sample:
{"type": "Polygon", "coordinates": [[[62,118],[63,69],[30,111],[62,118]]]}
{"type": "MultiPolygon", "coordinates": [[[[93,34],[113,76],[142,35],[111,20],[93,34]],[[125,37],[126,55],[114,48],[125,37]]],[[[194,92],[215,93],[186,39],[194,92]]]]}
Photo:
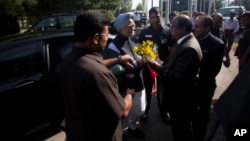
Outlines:
{"type": "Polygon", "coordinates": [[[120,119],[129,114],[134,90],[120,95],[116,77],[98,53],[106,46],[108,25],[109,18],[98,10],[76,19],[75,45],[61,65],[67,141],[122,141],[120,119]]]}

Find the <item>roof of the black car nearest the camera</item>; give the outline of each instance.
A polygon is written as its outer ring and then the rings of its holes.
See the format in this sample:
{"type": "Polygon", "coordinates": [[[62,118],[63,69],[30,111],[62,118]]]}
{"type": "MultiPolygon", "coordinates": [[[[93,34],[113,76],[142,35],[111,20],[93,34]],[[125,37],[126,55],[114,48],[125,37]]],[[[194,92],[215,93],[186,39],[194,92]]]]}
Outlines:
{"type": "Polygon", "coordinates": [[[35,40],[43,40],[55,37],[67,37],[74,36],[73,30],[48,30],[42,32],[25,32],[14,35],[8,35],[4,37],[0,37],[0,50],[15,44],[19,44],[22,42],[29,42],[35,40]]]}

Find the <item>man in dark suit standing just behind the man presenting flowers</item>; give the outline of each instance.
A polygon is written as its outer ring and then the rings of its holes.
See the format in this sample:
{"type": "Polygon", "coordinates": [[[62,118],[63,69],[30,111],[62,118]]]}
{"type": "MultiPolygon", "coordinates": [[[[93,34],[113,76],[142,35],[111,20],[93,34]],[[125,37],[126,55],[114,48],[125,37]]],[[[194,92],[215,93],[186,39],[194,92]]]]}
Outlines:
{"type": "Polygon", "coordinates": [[[200,43],[203,60],[196,92],[197,111],[193,121],[195,141],[202,141],[206,134],[211,101],[216,88],[215,77],[220,72],[224,56],[225,43],[210,33],[212,28],[211,16],[199,15],[196,17],[193,31],[200,43]]]}

